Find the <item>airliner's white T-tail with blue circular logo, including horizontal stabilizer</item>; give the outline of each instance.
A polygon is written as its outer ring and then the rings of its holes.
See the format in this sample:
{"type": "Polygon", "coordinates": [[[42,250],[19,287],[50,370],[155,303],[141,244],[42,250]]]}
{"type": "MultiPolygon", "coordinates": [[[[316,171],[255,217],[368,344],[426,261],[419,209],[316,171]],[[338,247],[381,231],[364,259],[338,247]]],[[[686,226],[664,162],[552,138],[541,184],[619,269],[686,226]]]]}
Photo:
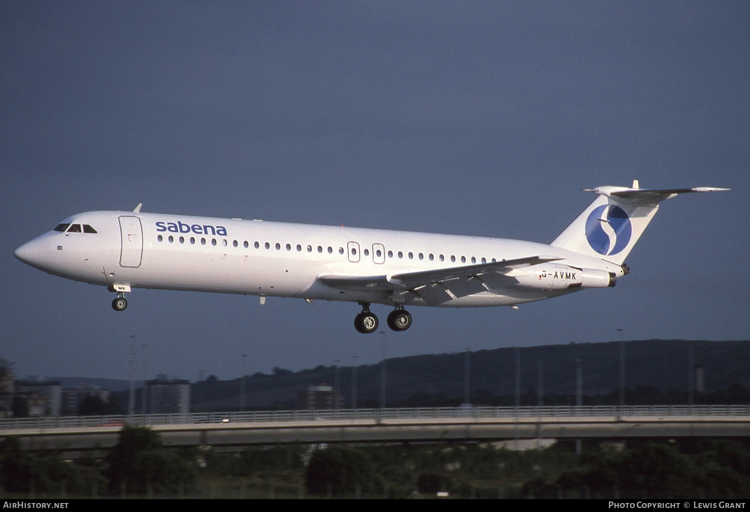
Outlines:
{"type": "Polygon", "coordinates": [[[658,204],[681,193],[730,190],[717,187],[695,187],[647,190],[633,181],[632,187],[607,185],[583,189],[598,194],[551,245],[597,256],[622,265],[640,235],[658,210],[658,204]]]}

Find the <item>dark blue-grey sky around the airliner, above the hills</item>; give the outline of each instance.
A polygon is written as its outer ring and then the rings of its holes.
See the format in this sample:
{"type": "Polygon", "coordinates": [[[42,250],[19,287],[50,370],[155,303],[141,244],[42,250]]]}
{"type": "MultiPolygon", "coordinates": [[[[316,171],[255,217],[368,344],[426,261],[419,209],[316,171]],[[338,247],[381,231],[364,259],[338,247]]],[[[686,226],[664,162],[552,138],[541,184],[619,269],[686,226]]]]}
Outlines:
{"type": "Polygon", "coordinates": [[[2,2],[0,353],[125,378],[134,334],[186,379],[380,358],[355,304],[136,290],[115,313],[13,258],[80,211],[548,243],[578,189],[634,178],[733,190],[664,203],[615,289],[413,308],[389,355],[748,339],[748,84],[747,1],[2,2]]]}

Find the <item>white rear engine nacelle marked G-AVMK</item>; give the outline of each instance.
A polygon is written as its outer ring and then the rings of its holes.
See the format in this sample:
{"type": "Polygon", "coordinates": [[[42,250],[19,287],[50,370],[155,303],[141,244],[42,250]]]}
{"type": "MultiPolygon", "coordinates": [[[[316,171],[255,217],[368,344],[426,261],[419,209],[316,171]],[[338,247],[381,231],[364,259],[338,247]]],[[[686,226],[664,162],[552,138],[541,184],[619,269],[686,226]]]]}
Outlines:
{"type": "Polygon", "coordinates": [[[617,277],[613,272],[553,263],[519,268],[507,275],[514,277],[521,286],[540,290],[608,288],[615,286],[617,282],[617,277]]]}

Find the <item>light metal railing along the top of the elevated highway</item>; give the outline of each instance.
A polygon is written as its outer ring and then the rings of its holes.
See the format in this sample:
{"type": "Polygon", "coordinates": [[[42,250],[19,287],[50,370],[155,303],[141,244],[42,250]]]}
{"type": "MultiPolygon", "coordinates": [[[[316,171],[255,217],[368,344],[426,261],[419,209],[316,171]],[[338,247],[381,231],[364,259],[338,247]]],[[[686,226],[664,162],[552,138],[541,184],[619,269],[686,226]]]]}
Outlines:
{"type": "Polygon", "coordinates": [[[263,423],[292,421],[386,421],[389,419],[445,418],[570,418],[628,416],[750,416],[750,406],[523,406],[523,407],[422,407],[402,409],[318,409],[299,411],[196,412],[118,416],[55,416],[3,418],[0,431],[121,427],[124,424],[158,426],[178,424],[263,423]]]}

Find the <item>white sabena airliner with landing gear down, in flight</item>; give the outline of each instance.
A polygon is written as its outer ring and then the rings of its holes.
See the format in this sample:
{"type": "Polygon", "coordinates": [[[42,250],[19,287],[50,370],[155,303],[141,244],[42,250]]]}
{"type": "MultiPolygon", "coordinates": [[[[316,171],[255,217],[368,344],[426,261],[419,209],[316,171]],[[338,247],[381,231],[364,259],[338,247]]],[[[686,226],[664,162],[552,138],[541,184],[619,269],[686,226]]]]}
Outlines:
{"type": "Polygon", "coordinates": [[[361,333],[377,331],[373,303],[394,308],[388,325],[412,325],[407,306],[510,306],[584,288],[614,286],[658,209],[696,187],[585,189],[596,193],[551,244],[260,220],[90,211],[15,251],[49,274],[107,286],[122,311],[133,288],[350,301],[361,333]]]}

